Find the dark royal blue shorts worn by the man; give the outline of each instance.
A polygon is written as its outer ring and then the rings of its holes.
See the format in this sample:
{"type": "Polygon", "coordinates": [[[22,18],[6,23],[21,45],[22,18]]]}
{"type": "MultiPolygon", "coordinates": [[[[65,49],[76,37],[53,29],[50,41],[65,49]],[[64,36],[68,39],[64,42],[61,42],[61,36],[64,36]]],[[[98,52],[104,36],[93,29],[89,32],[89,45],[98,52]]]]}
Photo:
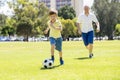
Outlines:
{"type": "Polygon", "coordinates": [[[82,32],[82,38],[85,46],[87,46],[88,44],[93,44],[94,32],[93,31],[90,31],[88,33],[82,32]]]}

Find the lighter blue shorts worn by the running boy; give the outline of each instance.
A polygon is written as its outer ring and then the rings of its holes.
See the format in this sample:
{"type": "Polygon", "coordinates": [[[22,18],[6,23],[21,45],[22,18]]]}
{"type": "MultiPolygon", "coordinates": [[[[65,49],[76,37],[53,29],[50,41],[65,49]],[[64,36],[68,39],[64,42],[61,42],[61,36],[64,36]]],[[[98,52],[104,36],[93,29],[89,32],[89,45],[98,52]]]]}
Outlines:
{"type": "Polygon", "coordinates": [[[58,50],[59,52],[62,51],[62,38],[53,38],[50,37],[50,44],[55,45],[55,49],[58,50]]]}

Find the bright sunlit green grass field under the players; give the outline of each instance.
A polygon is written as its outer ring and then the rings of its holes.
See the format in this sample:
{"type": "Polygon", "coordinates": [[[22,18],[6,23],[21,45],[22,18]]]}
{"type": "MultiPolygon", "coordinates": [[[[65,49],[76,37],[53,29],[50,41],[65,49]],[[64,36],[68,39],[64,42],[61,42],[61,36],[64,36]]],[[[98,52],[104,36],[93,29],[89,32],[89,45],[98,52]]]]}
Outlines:
{"type": "Polygon", "coordinates": [[[0,80],[120,80],[120,41],[95,41],[92,59],[82,41],[63,42],[63,56],[43,69],[49,42],[0,42],[0,80]]]}

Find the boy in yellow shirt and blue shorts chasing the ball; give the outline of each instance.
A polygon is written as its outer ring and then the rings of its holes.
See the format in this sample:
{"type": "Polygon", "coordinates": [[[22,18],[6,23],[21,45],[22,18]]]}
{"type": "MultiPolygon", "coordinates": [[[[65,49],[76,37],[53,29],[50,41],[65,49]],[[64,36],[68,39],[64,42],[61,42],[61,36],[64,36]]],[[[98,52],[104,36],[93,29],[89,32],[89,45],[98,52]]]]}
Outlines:
{"type": "Polygon", "coordinates": [[[64,64],[64,61],[62,59],[62,36],[61,36],[61,31],[62,31],[62,25],[61,22],[57,19],[57,10],[50,10],[49,12],[49,17],[50,20],[48,21],[48,27],[44,31],[45,34],[48,33],[50,29],[50,34],[49,34],[49,39],[50,39],[50,44],[51,44],[51,60],[54,62],[54,49],[59,51],[59,57],[60,57],[60,65],[64,64]]]}

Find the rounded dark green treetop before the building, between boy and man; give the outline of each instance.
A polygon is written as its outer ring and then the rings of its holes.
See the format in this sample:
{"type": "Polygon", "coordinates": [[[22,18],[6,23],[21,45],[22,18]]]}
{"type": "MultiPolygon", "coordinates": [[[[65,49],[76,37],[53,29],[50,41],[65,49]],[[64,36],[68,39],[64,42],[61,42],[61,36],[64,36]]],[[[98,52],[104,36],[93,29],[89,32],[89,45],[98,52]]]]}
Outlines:
{"type": "Polygon", "coordinates": [[[64,19],[73,19],[76,17],[75,10],[66,5],[58,10],[58,16],[64,19]]]}

